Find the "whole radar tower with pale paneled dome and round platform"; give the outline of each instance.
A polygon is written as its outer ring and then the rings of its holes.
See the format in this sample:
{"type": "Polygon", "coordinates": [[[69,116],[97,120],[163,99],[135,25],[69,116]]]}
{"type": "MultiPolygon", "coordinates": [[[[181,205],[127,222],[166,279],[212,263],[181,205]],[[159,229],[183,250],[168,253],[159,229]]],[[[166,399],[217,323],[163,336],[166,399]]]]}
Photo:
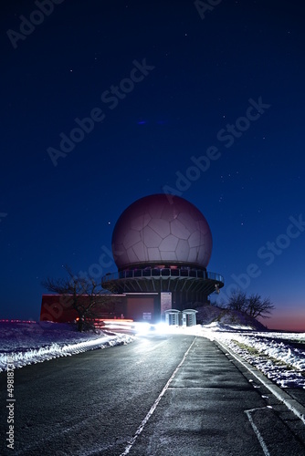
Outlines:
{"type": "Polygon", "coordinates": [[[104,275],[101,285],[126,296],[125,318],[187,318],[224,286],[222,275],[206,269],[211,253],[210,227],[194,204],[164,193],[146,196],[121,213],[112,234],[118,272],[104,275]]]}

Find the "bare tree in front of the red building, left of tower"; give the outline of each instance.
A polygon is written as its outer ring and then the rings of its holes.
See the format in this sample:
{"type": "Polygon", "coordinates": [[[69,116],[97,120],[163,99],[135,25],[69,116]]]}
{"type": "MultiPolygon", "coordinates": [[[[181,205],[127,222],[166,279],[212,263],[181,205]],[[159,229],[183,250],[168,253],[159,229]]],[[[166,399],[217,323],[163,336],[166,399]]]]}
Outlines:
{"type": "Polygon", "coordinates": [[[93,327],[90,319],[97,316],[95,308],[97,305],[106,305],[107,293],[91,277],[79,277],[74,275],[68,265],[64,266],[68,277],[61,279],[47,279],[41,282],[48,291],[61,295],[65,306],[73,308],[77,315],[78,330],[85,331],[93,327]]]}

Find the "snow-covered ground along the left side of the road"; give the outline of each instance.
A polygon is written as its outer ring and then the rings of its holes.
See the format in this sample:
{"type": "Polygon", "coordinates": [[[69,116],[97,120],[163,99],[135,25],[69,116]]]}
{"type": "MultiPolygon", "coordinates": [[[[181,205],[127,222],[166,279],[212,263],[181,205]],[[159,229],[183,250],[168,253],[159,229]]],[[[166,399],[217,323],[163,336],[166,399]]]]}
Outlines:
{"type": "Polygon", "coordinates": [[[59,323],[0,322],[0,372],[6,370],[7,357],[15,368],[48,359],[76,355],[87,350],[132,342],[127,334],[79,333],[73,326],[59,323]]]}

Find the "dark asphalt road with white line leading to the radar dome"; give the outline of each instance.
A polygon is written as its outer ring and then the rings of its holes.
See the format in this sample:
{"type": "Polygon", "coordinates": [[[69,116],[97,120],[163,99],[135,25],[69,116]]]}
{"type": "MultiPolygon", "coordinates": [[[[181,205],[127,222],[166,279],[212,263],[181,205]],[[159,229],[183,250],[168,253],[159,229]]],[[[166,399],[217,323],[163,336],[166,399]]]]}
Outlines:
{"type": "Polygon", "coordinates": [[[304,424],[203,337],[150,335],[15,370],[0,454],[305,455],[304,424]]]}

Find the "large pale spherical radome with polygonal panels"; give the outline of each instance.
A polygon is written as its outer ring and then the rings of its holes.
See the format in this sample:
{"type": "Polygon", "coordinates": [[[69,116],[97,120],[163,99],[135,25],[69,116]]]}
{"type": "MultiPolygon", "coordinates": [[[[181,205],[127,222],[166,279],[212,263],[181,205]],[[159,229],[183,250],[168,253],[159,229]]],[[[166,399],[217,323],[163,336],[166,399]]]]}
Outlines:
{"type": "Polygon", "coordinates": [[[121,213],[112,234],[112,253],[119,270],[158,264],[206,268],[212,233],[194,204],[179,196],[154,194],[121,213]]]}

